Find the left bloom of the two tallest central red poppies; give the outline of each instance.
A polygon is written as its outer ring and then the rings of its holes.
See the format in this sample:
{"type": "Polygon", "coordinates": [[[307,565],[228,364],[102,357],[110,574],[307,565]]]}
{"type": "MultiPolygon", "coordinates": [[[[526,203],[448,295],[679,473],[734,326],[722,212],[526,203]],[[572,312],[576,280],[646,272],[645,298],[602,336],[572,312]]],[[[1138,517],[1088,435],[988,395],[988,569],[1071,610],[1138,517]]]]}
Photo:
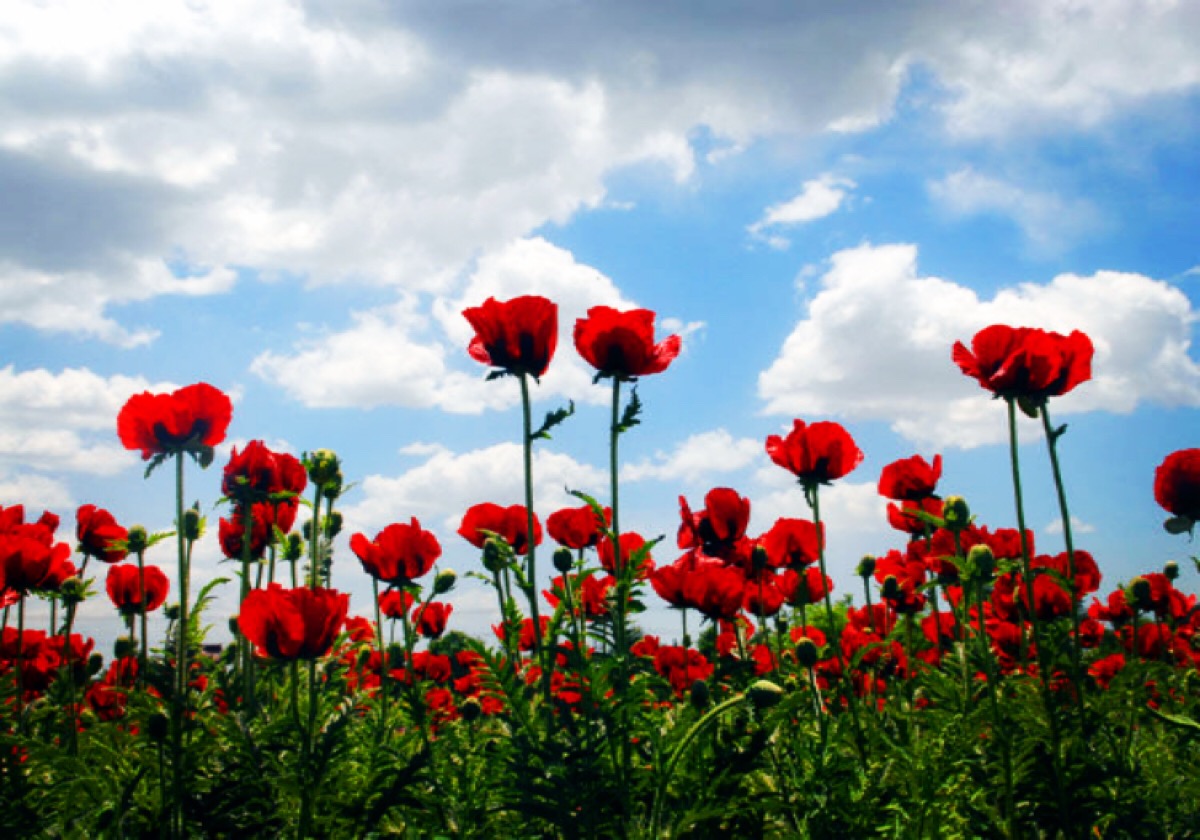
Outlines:
{"type": "Polygon", "coordinates": [[[475,328],[467,348],[475,361],[535,379],[550,367],[558,346],[557,304],[538,295],[508,301],[488,298],[462,314],[475,328]]]}

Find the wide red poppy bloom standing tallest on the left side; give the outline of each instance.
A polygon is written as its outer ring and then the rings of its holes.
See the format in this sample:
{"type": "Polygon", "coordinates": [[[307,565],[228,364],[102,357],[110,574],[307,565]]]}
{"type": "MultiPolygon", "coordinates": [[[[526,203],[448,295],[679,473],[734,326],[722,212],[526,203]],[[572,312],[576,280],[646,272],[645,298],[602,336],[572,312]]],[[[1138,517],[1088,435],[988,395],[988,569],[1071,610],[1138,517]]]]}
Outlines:
{"type": "Polygon", "coordinates": [[[170,394],[134,394],[116,415],[116,433],[142,458],[194,452],[224,440],[233,403],[222,391],[200,382],[170,394]]]}

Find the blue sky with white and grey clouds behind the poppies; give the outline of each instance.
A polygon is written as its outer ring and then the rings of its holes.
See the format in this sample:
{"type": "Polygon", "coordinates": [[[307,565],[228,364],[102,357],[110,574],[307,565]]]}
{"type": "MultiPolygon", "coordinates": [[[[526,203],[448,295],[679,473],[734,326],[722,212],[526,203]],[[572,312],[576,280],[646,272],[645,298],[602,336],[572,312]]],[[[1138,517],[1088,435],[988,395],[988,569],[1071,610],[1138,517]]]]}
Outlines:
{"type": "MultiPolygon", "coordinates": [[[[1014,524],[1003,407],[953,342],[1081,329],[1096,377],[1054,404],[1076,542],[1106,584],[1157,569],[1194,552],[1151,487],[1200,445],[1198,42],[1200,6],[1171,0],[13,0],[0,504],[169,528],[169,476],[143,480],[116,412],[206,380],[230,443],[342,455],[348,533],[418,516],[478,569],[455,529],[521,500],[521,420],[461,311],[533,293],[563,330],[536,410],[580,407],[539,446],[544,514],[607,481],[608,391],[570,341],[589,306],[684,336],[641,384],[623,523],[670,562],[680,493],[739,490],[752,533],[804,515],[763,440],[835,419],[866,452],[826,494],[842,590],[900,545],[892,460],[941,452],[943,492],[1014,524]]],[[[1030,522],[1057,552],[1039,430],[1030,522]]],[[[214,521],[217,472],[188,485],[214,521]]],[[[212,542],[199,578],[230,571],[212,542]]],[[[344,547],[335,570],[366,611],[344,547]]],[[[451,600],[482,632],[488,593],[451,600]]]]}

